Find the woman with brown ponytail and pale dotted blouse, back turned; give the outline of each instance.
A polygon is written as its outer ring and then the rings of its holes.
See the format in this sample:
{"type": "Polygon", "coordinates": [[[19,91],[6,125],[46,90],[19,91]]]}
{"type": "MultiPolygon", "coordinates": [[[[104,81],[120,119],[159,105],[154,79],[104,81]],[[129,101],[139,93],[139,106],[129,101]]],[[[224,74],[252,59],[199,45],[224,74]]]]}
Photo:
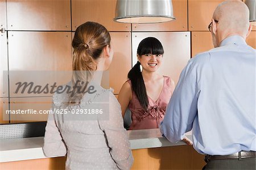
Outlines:
{"type": "Polygon", "coordinates": [[[72,42],[72,81],[65,85],[72,91],[53,96],[43,150],[51,157],[67,154],[66,169],[130,169],[133,164],[121,107],[112,91],[100,86],[113,57],[110,40],[101,24],[81,24],[72,42]]]}

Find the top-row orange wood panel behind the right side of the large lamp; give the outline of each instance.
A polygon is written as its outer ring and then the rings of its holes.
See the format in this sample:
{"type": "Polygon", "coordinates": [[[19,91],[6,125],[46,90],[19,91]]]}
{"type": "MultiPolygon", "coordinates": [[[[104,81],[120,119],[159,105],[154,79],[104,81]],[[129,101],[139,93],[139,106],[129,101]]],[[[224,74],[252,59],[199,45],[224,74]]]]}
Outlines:
{"type": "Polygon", "coordinates": [[[176,20],[155,24],[132,24],[133,31],[188,31],[187,0],[172,0],[176,20]]]}

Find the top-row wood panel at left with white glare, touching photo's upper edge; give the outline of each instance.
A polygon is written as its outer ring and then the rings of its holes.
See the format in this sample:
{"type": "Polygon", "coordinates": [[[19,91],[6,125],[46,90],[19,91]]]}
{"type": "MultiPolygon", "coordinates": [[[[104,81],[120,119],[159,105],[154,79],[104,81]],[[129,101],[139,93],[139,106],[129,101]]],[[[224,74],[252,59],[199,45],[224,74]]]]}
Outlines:
{"type": "Polygon", "coordinates": [[[71,31],[69,0],[7,0],[8,30],[71,31]]]}

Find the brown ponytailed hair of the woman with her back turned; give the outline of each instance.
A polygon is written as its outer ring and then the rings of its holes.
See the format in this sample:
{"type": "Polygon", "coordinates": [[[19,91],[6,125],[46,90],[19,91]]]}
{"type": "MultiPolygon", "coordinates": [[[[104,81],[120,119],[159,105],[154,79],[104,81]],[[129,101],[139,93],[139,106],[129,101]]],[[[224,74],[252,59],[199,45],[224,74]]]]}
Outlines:
{"type": "MultiPolygon", "coordinates": [[[[72,41],[73,47],[73,74],[72,84],[77,83],[81,89],[86,88],[86,82],[93,78],[97,70],[97,60],[102,49],[110,45],[110,34],[104,26],[96,22],[86,22],[77,27],[72,41]]],[[[75,90],[75,89],[73,89],[75,90]]],[[[68,105],[80,103],[84,93],[75,93],[69,96],[68,105]]]]}

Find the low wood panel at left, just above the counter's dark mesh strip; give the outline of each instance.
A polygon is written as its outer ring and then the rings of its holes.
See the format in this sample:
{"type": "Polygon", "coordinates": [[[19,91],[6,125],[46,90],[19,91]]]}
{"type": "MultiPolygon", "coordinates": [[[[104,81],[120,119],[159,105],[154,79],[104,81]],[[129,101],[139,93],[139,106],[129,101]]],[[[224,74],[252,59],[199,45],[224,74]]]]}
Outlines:
{"type": "Polygon", "coordinates": [[[10,98],[10,110],[16,111],[15,114],[10,115],[10,121],[11,123],[47,121],[51,107],[52,97],[10,98]]]}

